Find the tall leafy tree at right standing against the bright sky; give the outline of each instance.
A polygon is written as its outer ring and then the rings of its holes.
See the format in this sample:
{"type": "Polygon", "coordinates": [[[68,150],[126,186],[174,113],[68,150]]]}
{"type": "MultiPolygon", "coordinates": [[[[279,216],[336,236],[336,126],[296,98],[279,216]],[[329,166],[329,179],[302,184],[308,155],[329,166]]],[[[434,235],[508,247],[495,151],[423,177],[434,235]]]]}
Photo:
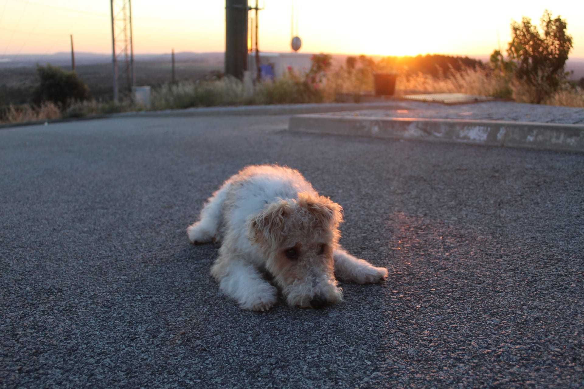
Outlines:
{"type": "Polygon", "coordinates": [[[521,24],[511,23],[507,54],[515,62],[515,78],[533,91],[533,103],[540,104],[565,79],[564,65],[572,48],[566,27],[565,20],[559,16],[552,19],[547,9],[541,17],[543,35],[529,17],[523,17],[521,24]]]}

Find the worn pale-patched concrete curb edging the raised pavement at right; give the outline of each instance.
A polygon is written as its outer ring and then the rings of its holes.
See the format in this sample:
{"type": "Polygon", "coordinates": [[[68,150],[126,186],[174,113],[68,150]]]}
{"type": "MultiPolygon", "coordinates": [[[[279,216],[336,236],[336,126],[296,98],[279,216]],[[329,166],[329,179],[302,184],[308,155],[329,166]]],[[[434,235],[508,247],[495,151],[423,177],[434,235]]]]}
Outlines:
{"type": "Polygon", "coordinates": [[[289,131],[419,139],[472,145],[584,152],[584,125],[538,122],[296,115],[289,131]]]}

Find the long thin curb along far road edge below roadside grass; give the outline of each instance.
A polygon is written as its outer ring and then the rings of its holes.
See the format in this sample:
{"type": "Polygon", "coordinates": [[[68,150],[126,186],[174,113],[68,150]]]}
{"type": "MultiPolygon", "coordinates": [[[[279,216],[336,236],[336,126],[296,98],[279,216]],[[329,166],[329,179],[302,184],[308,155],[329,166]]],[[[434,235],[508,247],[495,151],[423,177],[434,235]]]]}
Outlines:
{"type": "Polygon", "coordinates": [[[377,103],[314,103],[314,104],[273,104],[269,106],[238,106],[238,107],[196,107],[183,110],[165,111],[132,111],[116,114],[93,115],[80,118],[64,118],[39,120],[19,123],[0,124],[2,128],[23,127],[27,125],[65,123],[79,120],[135,118],[135,117],[189,117],[189,116],[239,116],[239,115],[297,115],[307,113],[325,113],[358,110],[394,110],[403,106],[396,100],[377,103]]]}

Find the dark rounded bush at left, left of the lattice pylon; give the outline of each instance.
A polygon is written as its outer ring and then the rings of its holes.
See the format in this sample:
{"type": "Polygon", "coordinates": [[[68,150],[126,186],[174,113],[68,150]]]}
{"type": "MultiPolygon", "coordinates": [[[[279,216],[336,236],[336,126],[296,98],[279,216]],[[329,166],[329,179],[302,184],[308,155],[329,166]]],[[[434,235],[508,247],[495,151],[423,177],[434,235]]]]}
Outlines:
{"type": "Polygon", "coordinates": [[[71,101],[82,101],[89,98],[89,87],[75,72],[46,65],[37,66],[37,73],[40,85],[34,89],[33,101],[36,104],[52,101],[65,107],[71,101]]]}

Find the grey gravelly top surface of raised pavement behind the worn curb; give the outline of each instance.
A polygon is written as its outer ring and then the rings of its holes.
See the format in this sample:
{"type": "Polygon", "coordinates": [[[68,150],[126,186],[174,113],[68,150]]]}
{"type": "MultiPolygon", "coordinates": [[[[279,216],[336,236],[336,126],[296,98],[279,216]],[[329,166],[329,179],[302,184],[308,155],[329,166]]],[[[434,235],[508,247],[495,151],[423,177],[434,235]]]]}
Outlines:
{"type": "Polygon", "coordinates": [[[335,116],[408,117],[431,119],[509,120],[558,124],[584,124],[584,109],[539,104],[485,101],[484,103],[444,105],[399,101],[399,110],[359,110],[335,112],[335,116]]]}

